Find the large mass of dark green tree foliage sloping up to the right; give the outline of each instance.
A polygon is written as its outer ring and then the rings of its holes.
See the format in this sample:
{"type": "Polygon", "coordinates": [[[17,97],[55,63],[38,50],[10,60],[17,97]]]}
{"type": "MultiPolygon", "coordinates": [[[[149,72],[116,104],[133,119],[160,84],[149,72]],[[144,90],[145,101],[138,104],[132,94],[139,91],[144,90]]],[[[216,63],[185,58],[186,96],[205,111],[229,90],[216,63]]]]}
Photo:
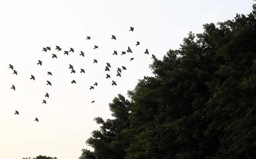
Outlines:
{"type": "Polygon", "coordinates": [[[80,159],[256,158],[256,5],[189,33],[110,104],[80,159]]]}

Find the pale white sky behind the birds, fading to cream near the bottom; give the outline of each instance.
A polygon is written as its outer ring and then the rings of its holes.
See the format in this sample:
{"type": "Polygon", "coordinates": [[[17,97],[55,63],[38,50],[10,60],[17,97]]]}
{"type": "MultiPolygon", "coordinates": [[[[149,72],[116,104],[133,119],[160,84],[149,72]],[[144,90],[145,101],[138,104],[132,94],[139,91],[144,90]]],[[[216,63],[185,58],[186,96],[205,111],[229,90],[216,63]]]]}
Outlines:
{"type": "Polygon", "coordinates": [[[111,117],[108,104],[127,97],[138,79],[153,76],[158,59],[179,49],[188,32],[203,24],[249,14],[252,0],[2,0],[0,1],[0,158],[47,155],[77,159],[99,125],[111,117]],[[129,31],[134,27],[134,31],[129,31]],[[112,35],[116,40],[111,39],[112,35]],[[86,40],[90,36],[90,40],[86,40]],[[140,45],[136,46],[136,41],[140,45]],[[56,51],[58,45],[62,51],[56,51]],[[93,49],[98,45],[98,49],[93,49]],[[51,51],[42,51],[43,47],[51,51]],[[126,53],[128,46],[133,53],[126,53]],[[74,53],[64,51],[74,48],[74,53]],[[144,54],[148,49],[149,55],[144,54]],[[114,50],[118,55],[112,55],[114,50]],[[80,51],[85,57],[80,56],[80,51]],[[57,59],[52,58],[57,55],[57,59]],[[134,58],[130,61],[130,58],[134,58]],[[97,59],[98,63],[93,63],[97,59]],[[41,60],[42,66],[37,65],[41,60]],[[111,64],[110,72],[104,69],[111,64]],[[14,65],[18,75],[9,69],[14,65]],[[70,73],[69,64],[76,73],[70,73]],[[125,66],[122,77],[117,68],[125,66]],[[85,69],[85,74],[80,69],[85,69]],[[52,72],[52,76],[47,75],[52,72]],[[111,76],[106,79],[106,74],[111,76]],[[31,75],[36,80],[30,80],[31,75]],[[72,80],[76,84],[71,84],[72,80]],[[46,80],[52,86],[46,85],[46,80]],[[117,86],[112,86],[112,80],[117,86]],[[90,90],[95,82],[98,86],[90,90]],[[11,89],[12,84],[16,90],[11,89]],[[50,98],[44,95],[48,92],[50,98]],[[42,104],[46,100],[47,104],[42,104]],[[95,100],[94,103],[91,103],[95,100]],[[15,115],[15,110],[19,115],[15,115]],[[39,122],[34,121],[35,118],[39,122]]]}

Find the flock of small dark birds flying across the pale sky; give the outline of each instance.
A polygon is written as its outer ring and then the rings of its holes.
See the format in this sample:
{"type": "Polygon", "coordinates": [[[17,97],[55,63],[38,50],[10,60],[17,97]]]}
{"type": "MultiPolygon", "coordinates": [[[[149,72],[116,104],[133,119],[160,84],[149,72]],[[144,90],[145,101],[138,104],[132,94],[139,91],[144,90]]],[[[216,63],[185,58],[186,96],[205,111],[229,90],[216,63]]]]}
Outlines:
{"type": "MultiPolygon", "coordinates": [[[[129,31],[133,31],[133,30],[134,30],[134,27],[130,27],[130,30],[129,30],[129,31]]],[[[91,37],[87,36],[86,39],[87,39],[87,40],[90,40],[90,38],[91,38],[91,37]]],[[[111,39],[116,40],[116,36],[112,35],[112,38],[111,38],[111,39]]],[[[139,41],[137,41],[137,43],[136,43],[136,46],[138,46],[138,45],[140,45],[140,42],[139,42],[139,41]]],[[[94,49],[98,49],[98,46],[94,45],[94,49]]],[[[51,51],[51,47],[43,47],[43,50],[42,50],[42,51],[47,52],[48,50],[51,51]]],[[[62,49],[61,49],[61,47],[56,46],[56,49],[55,49],[55,50],[61,51],[62,49]]],[[[73,49],[73,48],[70,48],[69,51],[64,51],[64,55],[68,55],[70,52],[73,52],[73,53],[74,53],[74,49],[73,49]]],[[[132,53],[132,49],[131,49],[130,47],[128,47],[127,53],[132,53]]],[[[148,49],[146,49],[146,51],[145,51],[144,53],[145,53],[145,54],[149,54],[148,49]]],[[[114,51],[113,55],[117,55],[117,54],[118,54],[117,51],[114,51]]],[[[126,51],[122,51],[122,54],[121,54],[121,55],[125,55],[125,54],[126,54],[126,51]]],[[[82,57],[84,57],[84,52],[83,52],[83,51],[80,51],[80,55],[81,55],[82,57]]],[[[57,57],[56,54],[52,54],[52,58],[56,58],[56,59],[57,59],[58,57],[57,57]]],[[[155,59],[155,58],[156,58],[156,57],[152,54],[152,59],[155,59]]],[[[130,61],[132,61],[132,60],[134,60],[133,57],[130,58],[130,61]]],[[[93,62],[93,63],[98,63],[97,59],[94,59],[94,62],[93,62]]],[[[14,69],[14,66],[11,65],[11,64],[9,64],[9,65],[10,65],[9,68],[13,70],[13,74],[18,75],[18,72],[14,69]]],[[[37,65],[42,66],[42,61],[38,60],[37,65]]],[[[110,67],[111,67],[110,63],[106,63],[106,65],[107,65],[107,66],[105,67],[105,71],[110,71],[110,67]]],[[[74,70],[74,66],[72,66],[71,64],[69,64],[69,69],[71,69],[71,73],[76,73],[76,70],[74,70]]],[[[126,67],[122,66],[122,69],[117,68],[117,74],[116,74],[116,76],[121,77],[122,70],[126,70],[126,67]]],[[[48,73],[47,75],[51,75],[51,76],[52,76],[52,73],[51,73],[51,72],[47,72],[47,73],[48,73]]],[[[80,73],[85,73],[84,69],[81,69],[80,73]]],[[[110,77],[110,75],[106,74],[106,79],[108,79],[108,78],[111,78],[111,77],[110,77]]],[[[30,79],[31,79],[31,80],[36,80],[34,75],[31,75],[31,78],[30,78],[30,79]]],[[[47,80],[46,82],[47,82],[46,85],[52,86],[52,83],[51,83],[49,80],[47,80]]],[[[76,80],[72,80],[71,83],[72,83],[72,84],[76,84],[76,80]]],[[[115,82],[114,80],[112,80],[112,86],[114,86],[114,85],[117,86],[116,82],[115,82]]],[[[91,89],[94,89],[94,86],[98,86],[98,83],[95,82],[95,83],[93,84],[93,86],[90,86],[90,90],[91,90],[91,89]]],[[[12,84],[11,89],[16,90],[16,87],[14,86],[14,84],[12,84]]],[[[45,97],[49,98],[49,94],[48,94],[47,92],[46,92],[45,97]]],[[[93,100],[91,103],[93,103],[93,102],[95,102],[95,101],[93,100]]],[[[43,104],[46,104],[46,100],[43,100],[42,103],[43,103],[43,104]]],[[[19,112],[18,112],[17,110],[15,110],[15,113],[14,113],[14,114],[19,115],[19,112]]],[[[34,121],[39,122],[38,118],[35,118],[34,121]]]]}

